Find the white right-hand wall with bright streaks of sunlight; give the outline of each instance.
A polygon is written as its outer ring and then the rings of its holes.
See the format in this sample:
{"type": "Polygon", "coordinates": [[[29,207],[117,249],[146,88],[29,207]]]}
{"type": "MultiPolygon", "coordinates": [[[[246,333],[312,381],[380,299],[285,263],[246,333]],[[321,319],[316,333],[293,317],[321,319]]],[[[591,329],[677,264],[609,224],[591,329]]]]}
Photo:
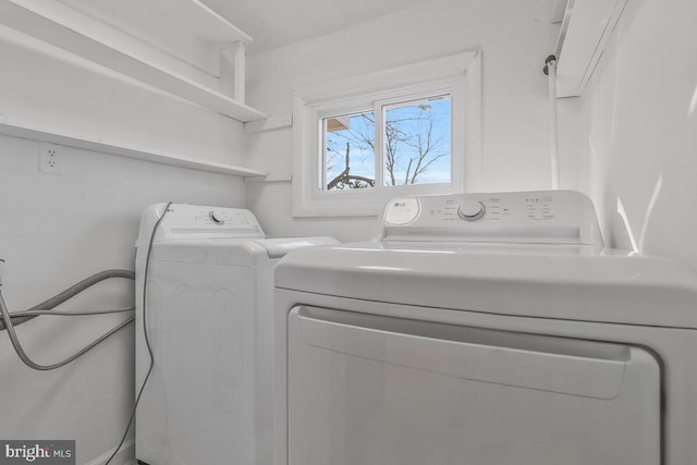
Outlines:
{"type": "Polygon", "coordinates": [[[629,0],[582,97],[590,167],[586,188],[607,242],[694,268],[696,17],[694,0],[670,8],[662,0],[629,0]]]}

